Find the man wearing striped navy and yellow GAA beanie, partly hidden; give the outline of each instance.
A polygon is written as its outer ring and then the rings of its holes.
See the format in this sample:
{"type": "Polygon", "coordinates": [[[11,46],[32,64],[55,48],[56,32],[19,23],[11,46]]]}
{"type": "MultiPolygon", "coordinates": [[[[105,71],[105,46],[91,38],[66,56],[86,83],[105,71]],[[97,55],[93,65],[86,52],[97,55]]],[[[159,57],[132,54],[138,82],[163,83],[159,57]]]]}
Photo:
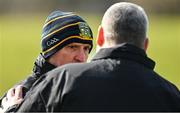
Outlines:
{"type": "Polygon", "coordinates": [[[78,15],[54,11],[43,26],[41,47],[32,75],[11,88],[0,100],[3,111],[16,110],[32,85],[41,82],[46,72],[67,63],[86,62],[93,47],[93,34],[78,15]]]}

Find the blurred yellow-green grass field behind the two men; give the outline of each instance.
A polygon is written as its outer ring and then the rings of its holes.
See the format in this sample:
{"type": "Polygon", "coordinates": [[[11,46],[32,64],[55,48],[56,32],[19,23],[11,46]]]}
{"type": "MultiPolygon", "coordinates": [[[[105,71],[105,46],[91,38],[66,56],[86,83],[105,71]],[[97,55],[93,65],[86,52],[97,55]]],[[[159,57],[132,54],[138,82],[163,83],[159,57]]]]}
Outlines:
{"type": "MultiPolygon", "coordinates": [[[[31,73],[46,16],[0,16],[0,95],[31,73]]],[[[102,15],[82,16],[96,37],[102,15]]],[[[154,15],[149,20],[148,56],[156,61],[155,70],[180,88],[180,16],[154,15]]]]}

